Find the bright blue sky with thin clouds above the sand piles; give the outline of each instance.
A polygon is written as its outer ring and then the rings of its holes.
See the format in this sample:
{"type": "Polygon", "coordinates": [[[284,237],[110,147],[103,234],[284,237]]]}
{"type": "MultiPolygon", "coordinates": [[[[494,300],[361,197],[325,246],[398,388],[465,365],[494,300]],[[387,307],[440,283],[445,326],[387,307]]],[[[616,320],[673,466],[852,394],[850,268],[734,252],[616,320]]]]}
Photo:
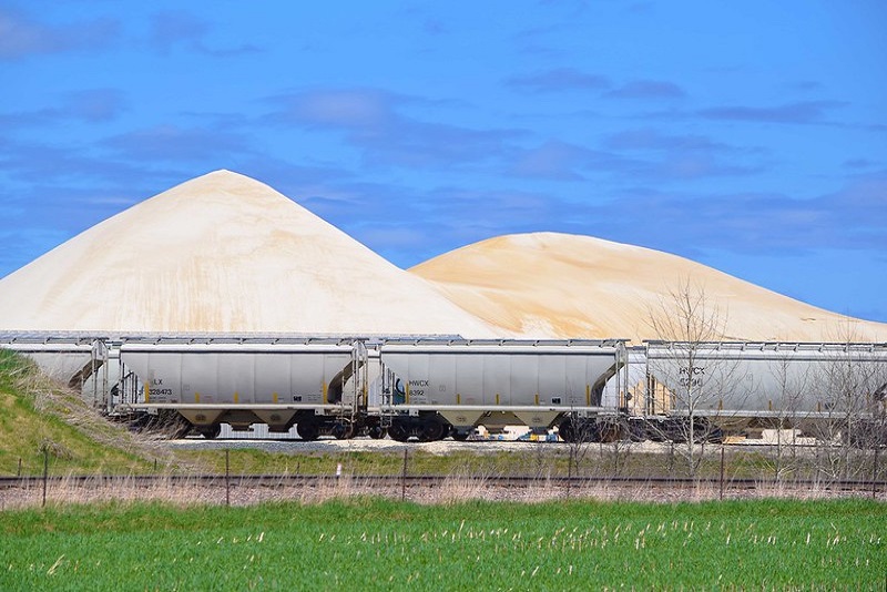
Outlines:
{"type": "Polygon", "coordinates": [[[887,321],[885,30],[881,0],[0,0],[0,276],[230,169],[401,267],[567,232],[887,321]]]}

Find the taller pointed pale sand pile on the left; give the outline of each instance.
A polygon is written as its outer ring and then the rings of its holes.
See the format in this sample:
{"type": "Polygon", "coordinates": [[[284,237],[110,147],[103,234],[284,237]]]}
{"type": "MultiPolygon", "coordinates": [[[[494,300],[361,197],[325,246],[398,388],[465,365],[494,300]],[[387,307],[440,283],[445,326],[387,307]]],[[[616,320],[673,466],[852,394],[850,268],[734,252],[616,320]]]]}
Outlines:
{"type": "Polygon", "coordinates": [[[1,279],[0,329],[493,334],[419,277],[227,171],[142,202],[1,279]]]}

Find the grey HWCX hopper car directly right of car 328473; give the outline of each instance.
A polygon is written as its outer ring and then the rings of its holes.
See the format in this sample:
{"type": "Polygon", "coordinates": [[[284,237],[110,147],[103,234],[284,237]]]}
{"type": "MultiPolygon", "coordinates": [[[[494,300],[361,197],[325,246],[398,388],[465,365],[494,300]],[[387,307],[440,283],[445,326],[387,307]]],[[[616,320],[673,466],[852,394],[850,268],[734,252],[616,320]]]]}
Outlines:
{"type": "Polygon", "coordinates": [[[604,385],[625,363],[622,340],[387,340],[379,348],[383,425],[397,440],[468,436],[490,422],[560,426],[614,416],[604,385]]]}

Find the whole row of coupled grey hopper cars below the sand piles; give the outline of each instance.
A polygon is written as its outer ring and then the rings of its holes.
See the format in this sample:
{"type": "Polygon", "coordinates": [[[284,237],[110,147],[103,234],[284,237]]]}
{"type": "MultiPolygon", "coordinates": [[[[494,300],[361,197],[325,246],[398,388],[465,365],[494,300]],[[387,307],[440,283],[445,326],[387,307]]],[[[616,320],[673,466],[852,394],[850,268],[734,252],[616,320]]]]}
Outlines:
{"type": "Polygon", "coordinates": [[[887,442],[887,344],[228,334],[0,335],[112,416],[215,438],[718,440],[791,428],[887,442]]]}

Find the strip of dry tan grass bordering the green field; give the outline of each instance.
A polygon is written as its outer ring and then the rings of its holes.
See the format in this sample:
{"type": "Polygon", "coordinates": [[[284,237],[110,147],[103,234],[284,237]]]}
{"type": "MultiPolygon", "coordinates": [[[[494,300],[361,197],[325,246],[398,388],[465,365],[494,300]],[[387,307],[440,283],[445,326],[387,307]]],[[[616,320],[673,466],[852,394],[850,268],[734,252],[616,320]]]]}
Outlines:
{"type": "MultiPolygon", "coordinates": [[[[421,504],[446,506],[471,500],[519,501],[538,503],[552,500],[594,500],[604,502],[703,502],[717,500],[721,490],[717,483],[700,482],[692,487],[669,486],[667,483],[590,482],[567,487],[561,482],[540,478],[526,486],[501,486],[489,476],[471,476],[456,472],[438,484],[408,484],[399,481],[374,480],[373,478],[343,474],[341,477],[318,478],[309,484],[293,486],[282,479],[266,482],[244,482],[232,476],[227,486],[224,478],[211,484],[171,474],[144,484],[133,477],[94,477],[86,481],[72,478],[51,481],[47,489],[48,506],[90,504],[106,502],[156,501],[176,507],[193,506],[255,506],[264,502],[298,502],[303,504],[323,503],[329,500],[353,499],[357,497],[381,497],[400,499],[421,504]]],[[[836,498],[871,498],[870,491],[840,491],[824,486],[796,488],[789,482],[761,482],[754,489],[732,488],[727,484],[724,500],[740,499],[796,499],[822,500],[836,498]]],[[[885,499],[880,492],[877,499],[885,499]]],[[[0,490],[0,511],[39,507],[43,502],[41,482],[30,486],[0,490]]]]}

